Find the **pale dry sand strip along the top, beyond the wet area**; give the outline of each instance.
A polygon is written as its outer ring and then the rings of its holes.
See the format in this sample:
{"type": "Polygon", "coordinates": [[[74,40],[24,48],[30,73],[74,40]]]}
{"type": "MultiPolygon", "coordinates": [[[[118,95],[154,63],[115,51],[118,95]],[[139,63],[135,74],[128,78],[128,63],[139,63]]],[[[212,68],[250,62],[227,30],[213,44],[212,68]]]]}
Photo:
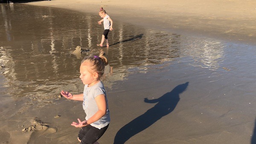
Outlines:
{"type": "MultiPolygon", "coordinates": [[[[256,2],[249,0],[186,0],[129,2],[52,0],[26,3],[97,14],[102,6],[113,21],[118,20],[148,29],[157,29],[198,37],[212,37],[230,42],[256,44],[256,2]]],[[[114,27],[114,25],[113,25],[114,27]]]]}

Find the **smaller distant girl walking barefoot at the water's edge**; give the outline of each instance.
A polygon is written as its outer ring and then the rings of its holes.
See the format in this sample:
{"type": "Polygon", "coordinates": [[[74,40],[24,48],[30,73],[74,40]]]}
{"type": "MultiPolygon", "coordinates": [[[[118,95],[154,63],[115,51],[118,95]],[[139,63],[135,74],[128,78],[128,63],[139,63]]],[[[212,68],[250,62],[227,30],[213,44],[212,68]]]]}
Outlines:
{"type": "Polygon", "coordinates": [[[103,22],[104,25],[104,32],[102,35],[102,40],[100,44],[97,44],[97,46],[103,46],[104,41],[106,40],[106,46],[109,46],[108,43],[108,32],[113,30],[113,20],[111,20],[111,18],[108,16],[108,14],[106,13],[106,11],[101,7],[99,9],[99,16],[102,17],[103,19],[98,21],[98,24],[101,25],[103,22]]]}

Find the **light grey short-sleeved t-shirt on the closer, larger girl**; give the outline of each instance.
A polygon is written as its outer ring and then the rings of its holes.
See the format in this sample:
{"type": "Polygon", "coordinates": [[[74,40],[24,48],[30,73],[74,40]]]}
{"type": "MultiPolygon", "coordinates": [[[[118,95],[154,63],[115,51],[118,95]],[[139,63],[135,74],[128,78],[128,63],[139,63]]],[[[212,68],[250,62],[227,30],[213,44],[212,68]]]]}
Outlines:
{"type": "Polygon", "coordinates": [[[83,101],[83,109],[86,114],[85,120],[87,121],[90,117],[92,117],[99,109],[96,104],[95,98],[98,95],[105,95],[105,100],[107,104],[107,112],[106,114],[100,118],[98,121],[95,121],[94,123],[90,124],[93,127],[96,127],[98,129],[101,129],[103,127],[106,127],[110,122],[110,114],[108,110],[108,99],[105,92],[105,87],[102,84],[102,81],[99,83],[88,87],[88,85],[84,85],[84,101],[83,101]]]}

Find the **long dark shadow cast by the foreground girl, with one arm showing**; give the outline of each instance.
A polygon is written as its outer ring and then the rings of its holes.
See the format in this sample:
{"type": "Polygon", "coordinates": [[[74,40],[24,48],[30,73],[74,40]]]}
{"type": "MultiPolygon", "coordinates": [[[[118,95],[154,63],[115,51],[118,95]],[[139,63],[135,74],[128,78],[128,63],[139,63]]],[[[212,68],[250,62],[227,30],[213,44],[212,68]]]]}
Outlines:
{"type": "Polygon", "coordinates": [[[180,84],[172,89],[171,92],[167,92],[157,99],[148,100],[148,98],[145,98],[144,102],[157,104],[151,109],[148,109],[143,115],[140,115],[122,127],[116,133],[114,144],[124,144],[132,136],[150,127],[163,116],[171,113],[180,101],[180,93],[184,92],[188,85],[189,82],[180,84]]]}

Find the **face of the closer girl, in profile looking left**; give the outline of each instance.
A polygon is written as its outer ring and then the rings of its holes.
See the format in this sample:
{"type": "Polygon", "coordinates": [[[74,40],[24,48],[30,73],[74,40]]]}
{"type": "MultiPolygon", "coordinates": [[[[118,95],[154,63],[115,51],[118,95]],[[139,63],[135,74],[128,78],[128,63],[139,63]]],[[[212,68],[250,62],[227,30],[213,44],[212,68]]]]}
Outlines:
{"type": "Polygon", "coordinates": [[[88,85],[92,85],[94,84],[94,82],[96,82],[97,77],[96,77],[96,72],[90,72],[90,65],[88,62],[84,62],[81,64],[80,66],[80,76],[79,78],[81,78],[81,81],[83,82],[83,84],[88,84],[88,85]]]}

